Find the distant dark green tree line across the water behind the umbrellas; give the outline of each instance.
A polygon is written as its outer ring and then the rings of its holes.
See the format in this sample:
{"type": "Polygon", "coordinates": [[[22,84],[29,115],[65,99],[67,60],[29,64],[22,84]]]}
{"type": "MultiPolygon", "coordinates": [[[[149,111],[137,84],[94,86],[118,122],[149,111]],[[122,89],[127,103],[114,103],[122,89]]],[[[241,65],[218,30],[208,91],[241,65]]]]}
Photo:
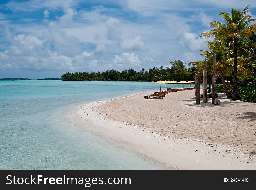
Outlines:
{"type": "Polygon", "coordinates": [[[193,80],[197,68],[186,68],[185,64],[180,60],[170,61],[171,66],[163,68],[149,69],[145,71],[142,68],[140,72],[136,72],[133,68],[124,71],[115,71],[114,69],[106,70],[103,72],[75,72],[64,73],[62,80],[91,80],[91,81],[158,81],[158,80],[193,80]]]}

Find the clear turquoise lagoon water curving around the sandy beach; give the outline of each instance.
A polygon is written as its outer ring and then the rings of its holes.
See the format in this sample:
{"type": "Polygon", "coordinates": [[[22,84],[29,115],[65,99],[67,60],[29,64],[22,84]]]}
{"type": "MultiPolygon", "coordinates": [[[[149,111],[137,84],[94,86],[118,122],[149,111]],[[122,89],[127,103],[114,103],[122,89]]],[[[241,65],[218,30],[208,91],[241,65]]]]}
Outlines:
{"type": "Polygon", "coordinates": [[[166,169],[153,159],[75,126],[63,116],[79,103],[147,90],[157,92],[159,85],[149,82],[0,81],[0,169],[166,169]]]}

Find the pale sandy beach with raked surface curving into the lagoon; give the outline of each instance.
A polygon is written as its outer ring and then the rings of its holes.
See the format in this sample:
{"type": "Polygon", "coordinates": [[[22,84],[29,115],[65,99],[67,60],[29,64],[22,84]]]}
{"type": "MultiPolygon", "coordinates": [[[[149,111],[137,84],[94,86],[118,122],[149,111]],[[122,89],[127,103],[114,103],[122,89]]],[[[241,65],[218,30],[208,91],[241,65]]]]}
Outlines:
{"type": "Polygon", "coordinates": [[[218,94],[219,106],[196,105],[195,90],[149,94],[81,105],[70,119],[179,169],[256,169],[255,103],[218,94]]]}

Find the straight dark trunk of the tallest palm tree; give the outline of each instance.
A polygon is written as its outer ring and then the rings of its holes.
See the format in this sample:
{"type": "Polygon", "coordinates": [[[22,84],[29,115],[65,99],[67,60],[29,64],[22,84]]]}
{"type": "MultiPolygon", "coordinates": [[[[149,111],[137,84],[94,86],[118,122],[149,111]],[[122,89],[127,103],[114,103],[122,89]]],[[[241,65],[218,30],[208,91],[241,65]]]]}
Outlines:
{"type": "Polygon", "coordinates": [[[233,93],[232,99],[233,100],[240,100],[238,87],[237,87],[237,40],[234,40],[234,75],[233,75],[233,93]]]}

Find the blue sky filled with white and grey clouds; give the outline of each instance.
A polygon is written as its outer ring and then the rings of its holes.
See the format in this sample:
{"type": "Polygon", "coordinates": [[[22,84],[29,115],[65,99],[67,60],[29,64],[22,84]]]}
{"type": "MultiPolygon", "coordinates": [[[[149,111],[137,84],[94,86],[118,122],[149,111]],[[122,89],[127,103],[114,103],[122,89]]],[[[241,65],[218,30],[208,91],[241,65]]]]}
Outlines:
{"type": "Polygon", "coordinates": [[[248,0],[1,0],[0,78],[201,61],[209,23],[249,4],[256,18],[248,0]]]}

